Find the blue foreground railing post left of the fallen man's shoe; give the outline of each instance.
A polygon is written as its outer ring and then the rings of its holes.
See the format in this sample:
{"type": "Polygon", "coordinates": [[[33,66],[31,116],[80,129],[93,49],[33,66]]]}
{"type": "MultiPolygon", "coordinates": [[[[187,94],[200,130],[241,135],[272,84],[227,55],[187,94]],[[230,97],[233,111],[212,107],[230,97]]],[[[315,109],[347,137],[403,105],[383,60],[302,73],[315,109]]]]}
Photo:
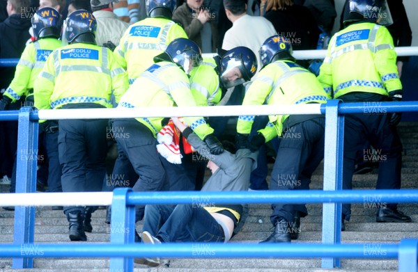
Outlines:
{"type": "MultiPolygon", "coordinates": [[[[132,192],[130,188],[118,188],[114,190],[111,201],[110,242],[112,244],[135,242],[135,206],[127,206],[127,194],[132,192]]],[[[110,272],[134,270],[132,257],[110,258],[110,272]]]]}

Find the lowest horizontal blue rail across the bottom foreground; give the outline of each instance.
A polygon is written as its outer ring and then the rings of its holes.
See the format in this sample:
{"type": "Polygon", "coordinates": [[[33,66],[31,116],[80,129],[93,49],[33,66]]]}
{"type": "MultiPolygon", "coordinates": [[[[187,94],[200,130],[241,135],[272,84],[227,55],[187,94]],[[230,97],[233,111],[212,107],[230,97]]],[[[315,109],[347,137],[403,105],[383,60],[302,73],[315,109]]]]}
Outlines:
{"type": "Polygon", "coordinates": [[[173,257],[173,258],[239,258],[239,257],[353,257],[397,258],[400,245],[385,243],[145,243],[104,245],[8,244],[0,245],[1,257],[173,257]]]}

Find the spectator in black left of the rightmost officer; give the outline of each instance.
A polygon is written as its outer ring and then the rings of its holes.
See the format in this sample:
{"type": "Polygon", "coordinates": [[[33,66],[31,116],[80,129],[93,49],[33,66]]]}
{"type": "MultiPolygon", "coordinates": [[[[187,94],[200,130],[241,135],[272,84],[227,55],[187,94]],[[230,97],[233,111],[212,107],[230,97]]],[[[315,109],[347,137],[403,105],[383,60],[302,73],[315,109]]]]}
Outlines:
{"type": "MultiPolygon", "coordinates": [[[[294,50],[316,49],[320,30],[309,9],[293,0],[268,0],[264,15],[272,22],[277,34],[287,38],[294,50]]],[[[297,61],[308,67],[307,61],[297,61]]]]}

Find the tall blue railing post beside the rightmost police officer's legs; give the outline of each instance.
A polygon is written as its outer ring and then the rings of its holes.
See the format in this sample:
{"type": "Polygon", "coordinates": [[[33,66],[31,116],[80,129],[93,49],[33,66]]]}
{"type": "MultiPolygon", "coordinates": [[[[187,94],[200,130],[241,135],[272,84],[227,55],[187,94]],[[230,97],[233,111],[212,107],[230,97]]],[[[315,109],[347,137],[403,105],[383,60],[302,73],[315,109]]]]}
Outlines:
{"type": "MultiPolygon", "coordinates": [[[[342,189],[344,115],[339,115],[339,100],[332,99],[325,111],[324,191],[342,189]]],[[[323,204],[323,243],[341,243],[341,203],[323,204]]],[[[339,258],[323,258],[322,268],[341,266],[339,258]]]]}

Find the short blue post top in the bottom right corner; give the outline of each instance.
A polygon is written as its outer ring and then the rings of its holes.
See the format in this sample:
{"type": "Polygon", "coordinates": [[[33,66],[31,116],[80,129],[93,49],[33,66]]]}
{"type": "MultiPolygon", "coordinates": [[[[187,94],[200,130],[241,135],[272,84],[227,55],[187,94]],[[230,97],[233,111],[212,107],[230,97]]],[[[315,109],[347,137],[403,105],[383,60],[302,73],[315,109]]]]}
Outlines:
{"type": "Polygon", "coordinates": [[[404,239],[398,251],[398,271],[418,271],[418,240],[404,239]]]}

